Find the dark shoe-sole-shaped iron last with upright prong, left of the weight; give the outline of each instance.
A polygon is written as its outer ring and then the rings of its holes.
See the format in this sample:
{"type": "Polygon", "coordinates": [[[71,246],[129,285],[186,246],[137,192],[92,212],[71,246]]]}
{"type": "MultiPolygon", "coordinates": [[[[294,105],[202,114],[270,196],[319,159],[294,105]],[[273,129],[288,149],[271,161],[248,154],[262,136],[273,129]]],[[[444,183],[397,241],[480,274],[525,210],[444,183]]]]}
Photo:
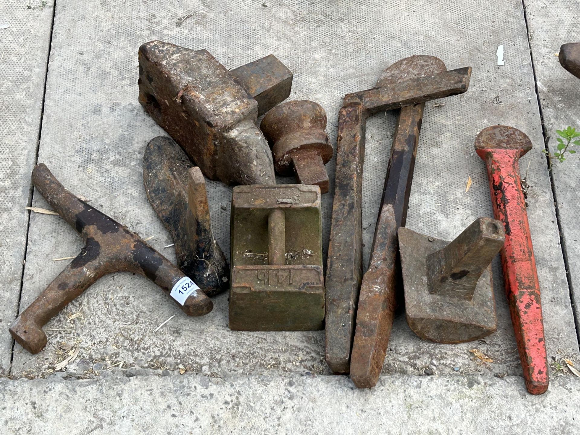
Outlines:
{"type": "Polygon", "coordinates": [[[143,183],[171,233],[177,266],[208,296],[227,290],[230,267],[213,237],[205,179],[169,137],[155,137],[143,155],[143,183]]]}

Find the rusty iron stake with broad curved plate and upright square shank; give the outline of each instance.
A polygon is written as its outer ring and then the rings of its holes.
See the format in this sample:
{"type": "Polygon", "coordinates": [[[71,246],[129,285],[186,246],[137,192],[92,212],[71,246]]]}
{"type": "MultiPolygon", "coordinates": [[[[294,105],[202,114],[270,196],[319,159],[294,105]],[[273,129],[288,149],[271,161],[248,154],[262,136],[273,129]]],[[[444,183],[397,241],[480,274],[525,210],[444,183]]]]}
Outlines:
{"type": "Polygon", "coordinates": [[[470,342],[495,332],[491,260],[503,241],[502,223],[490,218],[476,219],[452,242],[398,229],[413,332],[437,343],[470,342]]]}

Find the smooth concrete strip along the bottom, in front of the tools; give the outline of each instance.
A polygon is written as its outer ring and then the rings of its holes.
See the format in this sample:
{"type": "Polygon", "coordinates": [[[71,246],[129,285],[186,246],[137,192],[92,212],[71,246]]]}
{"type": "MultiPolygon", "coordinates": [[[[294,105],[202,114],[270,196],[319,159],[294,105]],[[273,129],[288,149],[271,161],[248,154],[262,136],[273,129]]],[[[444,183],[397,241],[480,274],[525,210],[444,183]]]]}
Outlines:
{"type": "Polygon", "coordinates": [[[3,433],[577,434],[580,379],[531,396],[519,377],[125,376],[0,380],[3,433]],[[565,398],[565,399],[563,399],[565,398]]]}

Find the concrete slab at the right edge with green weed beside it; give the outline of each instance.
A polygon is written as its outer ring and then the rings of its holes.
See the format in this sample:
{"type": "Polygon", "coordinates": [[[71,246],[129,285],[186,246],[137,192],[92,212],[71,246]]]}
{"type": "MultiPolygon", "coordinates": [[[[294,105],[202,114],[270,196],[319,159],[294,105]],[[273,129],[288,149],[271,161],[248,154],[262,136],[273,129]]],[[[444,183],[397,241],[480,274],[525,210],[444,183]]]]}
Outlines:
{"type": "MultiPolygon", "coordinates": [[[[568,125],[580,131],[580,80],[561,67],[557,57],[560,46],[580,42],[578,2],[570,0],[533,0],[527,9],[530,45],[534,58],[536,83],[542,107],[545,136],[550,153],[557,153],[556,130],[568,125]]],[[[580,152],[580,149],[577,149],[580,152]]],[[[553,164],[555,200],[559,211],[561,237],[570,277],[572,303],[580,318],[580,227],[578,226],[578,185],[580,154],[568,155],[563,163],[553,164]]]]}

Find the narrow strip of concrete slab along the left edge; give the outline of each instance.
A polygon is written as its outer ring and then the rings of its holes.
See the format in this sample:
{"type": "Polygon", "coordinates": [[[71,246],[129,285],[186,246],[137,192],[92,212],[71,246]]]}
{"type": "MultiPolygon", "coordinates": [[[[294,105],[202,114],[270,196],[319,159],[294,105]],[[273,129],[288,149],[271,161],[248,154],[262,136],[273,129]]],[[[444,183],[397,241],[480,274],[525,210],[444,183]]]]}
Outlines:
{"type": "Polygon", "coordinates": [[[4,0],[0,8],[0,374],[8,374],[28,231],[53,0],[4,0]],[[43,3],[45,3],[43,5],[43,3]]]}

